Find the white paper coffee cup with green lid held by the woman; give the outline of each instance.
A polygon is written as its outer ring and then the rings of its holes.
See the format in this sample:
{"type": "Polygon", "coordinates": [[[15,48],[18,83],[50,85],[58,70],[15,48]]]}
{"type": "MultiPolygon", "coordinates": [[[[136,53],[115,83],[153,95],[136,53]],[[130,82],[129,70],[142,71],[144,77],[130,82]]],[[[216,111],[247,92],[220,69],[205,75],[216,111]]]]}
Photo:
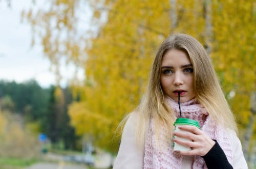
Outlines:
{"type": "MultiPolygon", "coordinates": [[[[175,126],[174,131],[189,132],[189,131],[179,129],[179,126],[184,126],[184,125],[196,126],[197,128],[200,129],[198,121],[193,120],[193,119],[187,119],[187,118],[178,118],[178,119],[176,119],[176,122],[174,123],[174,126],[175,126]]],[[[177,138],[177,139],[183,140],[183,141],[189,141],[190,140],[190,139],[182,138],[182,137],[178,137],[178,136],[174,136],[174,138],[177,138]]],[[[190,147],[185,147],[185,146],[182,146],[178,143],[173,142],[173,150],[174,151],[189,151],[189,150],[191,150],[191,148],[190,147]]]]}

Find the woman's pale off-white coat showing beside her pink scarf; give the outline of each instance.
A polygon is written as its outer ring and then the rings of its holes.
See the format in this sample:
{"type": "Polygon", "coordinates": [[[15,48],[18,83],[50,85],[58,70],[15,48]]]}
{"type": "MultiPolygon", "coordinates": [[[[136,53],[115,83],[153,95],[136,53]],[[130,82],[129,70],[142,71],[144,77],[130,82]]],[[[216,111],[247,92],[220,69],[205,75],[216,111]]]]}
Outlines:
{"type": "MultiPolygon", "coordinates": [[[[136,116],[138,115],[131,114],[124,126],[119,151],[114,162],[113,169],[143,168],[144,147],[138,147],[136,144],[135,127],[138,119],[136,116]]],[[[231,165],[234,169],[247,169],[248,166],[243,155],[239,138],[232,130],[229,130],[228,137],[230,138],[234,153],[231,165]]],[[[182,168],[191,168],[193,158],[190,157],[184,156],[182,168]]]]}

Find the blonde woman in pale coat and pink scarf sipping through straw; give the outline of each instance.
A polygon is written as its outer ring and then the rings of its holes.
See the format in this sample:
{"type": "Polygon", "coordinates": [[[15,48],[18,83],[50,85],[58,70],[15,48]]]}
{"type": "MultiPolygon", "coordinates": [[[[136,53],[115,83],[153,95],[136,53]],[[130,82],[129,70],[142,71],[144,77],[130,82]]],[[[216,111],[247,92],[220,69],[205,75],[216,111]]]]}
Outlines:
{"type": "Polygon", "coordinates": [[[160,46],[138,108],[127,118],[116,168],[247,168],[237,126],[210,58],[193,37],[175,34],[160,46]],[[179,127],[178,95],[183,118],[200,128],[179,127]],[[183,141],[179,136],[191,141],[183,141]],[[173,142],[190,151],[173,151],[173,142]]]}

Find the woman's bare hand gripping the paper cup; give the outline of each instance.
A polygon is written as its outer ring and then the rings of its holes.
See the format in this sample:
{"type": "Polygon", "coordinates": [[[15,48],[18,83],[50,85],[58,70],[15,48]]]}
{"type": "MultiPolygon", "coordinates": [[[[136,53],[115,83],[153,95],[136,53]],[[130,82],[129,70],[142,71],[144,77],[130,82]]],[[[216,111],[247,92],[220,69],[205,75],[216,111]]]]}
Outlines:
{"type": "Polygon", "coordinates": [[[198,129],[195,126],[179,126],[180,130],[190,131],[182,132],[175,131],[174,135],[178,137],[188,138],[192,141],[183,141],[177,138],[174,138],[174,142],[182,146],[190,147],[190,151],[180,151],[182,155],[200,155],[204,156],[207,154],[210,149],[215,145],[215,141],[212,140],[207,134],[202,130],[198,129]]]}

